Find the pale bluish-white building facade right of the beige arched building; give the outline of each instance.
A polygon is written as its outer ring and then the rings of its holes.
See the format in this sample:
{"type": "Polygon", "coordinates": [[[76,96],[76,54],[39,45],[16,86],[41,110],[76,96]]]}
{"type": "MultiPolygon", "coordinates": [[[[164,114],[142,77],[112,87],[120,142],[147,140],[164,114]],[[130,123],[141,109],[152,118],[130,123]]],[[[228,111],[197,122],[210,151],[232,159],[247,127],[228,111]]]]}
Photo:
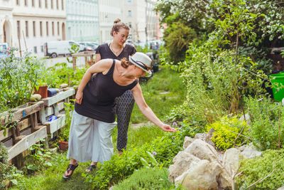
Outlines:
{"type": "Polygon", "coordinates": [[[99,43],[98,3],[98,0],[67,0],[67,39],[99,43]]]}

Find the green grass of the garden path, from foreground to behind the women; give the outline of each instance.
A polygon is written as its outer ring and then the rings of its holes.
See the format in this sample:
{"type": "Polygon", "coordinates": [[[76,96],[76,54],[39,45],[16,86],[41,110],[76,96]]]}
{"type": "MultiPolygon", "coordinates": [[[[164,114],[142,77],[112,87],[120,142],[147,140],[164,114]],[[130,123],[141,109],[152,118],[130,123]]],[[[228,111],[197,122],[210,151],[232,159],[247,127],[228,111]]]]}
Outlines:
{"type": "MultiPolygon", "coordinates": [[[[162,68],[158,73],[155,73],[153,78],[148,80],[148,83],[143,83],[141,86],[146,102],[161,120],[165,119],[171,108],[182,103],[185,95],[185,89],[182,88],[182,81],[178,73],[168,68],[162,68]]],[[[156,137],[165,134],[159,127],[148,125],[146,122],[148,120],[135,105],[131,115],[131,124],[145,123],[145,125],[138,128],[130,125],[129,150],[134,147],[140,147],[146,142],[151,142],[156,137]]],[[[113,132],[114,147],[116,147],[116,138],[117,128],[113,132]]],[[[84,182],[84,177],[82,176],[89,163],[80,163],[72,179],[63,181],[62,174],[68,165],[66,154],[57,153],[53,155],[53,158],[52,167],[48,167],[44,171],[38,171],[34,176],[23,177],[18,181],[18,186],[12,189],[91,189],[91,186],[84,182]]]]}

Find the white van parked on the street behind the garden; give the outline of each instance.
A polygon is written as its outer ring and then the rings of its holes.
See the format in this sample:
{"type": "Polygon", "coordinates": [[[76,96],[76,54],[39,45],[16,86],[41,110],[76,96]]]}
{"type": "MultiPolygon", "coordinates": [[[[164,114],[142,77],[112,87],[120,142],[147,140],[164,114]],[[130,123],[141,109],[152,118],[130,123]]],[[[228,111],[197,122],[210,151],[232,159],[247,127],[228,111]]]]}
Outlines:
{"type": "MultiPolygon", "coordinates": [[[[72,44],[80,46],[75,41],[48,41],[44,43],[44,55],[50,56],[50,58],[56,58],[57,56],[70,55],[70,48],[72,44]]],[[[82,45],[81,45],[82,46],[82,45]]],[[[81,49],[80,46],[80,49],[81,49]]]]}

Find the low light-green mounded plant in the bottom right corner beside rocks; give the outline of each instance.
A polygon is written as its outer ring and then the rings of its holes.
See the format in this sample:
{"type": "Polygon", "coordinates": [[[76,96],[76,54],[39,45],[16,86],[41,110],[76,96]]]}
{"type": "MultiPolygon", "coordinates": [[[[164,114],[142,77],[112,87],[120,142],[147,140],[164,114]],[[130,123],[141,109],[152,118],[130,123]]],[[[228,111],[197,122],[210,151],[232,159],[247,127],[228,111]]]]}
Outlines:
{"type": "Polygon", "coordinates": [[[239,189],[278,189],[284,181],[284,149],[268,150],[261,157],[246,159],[239,171],[241,175],[236,177],[239,189]]]}

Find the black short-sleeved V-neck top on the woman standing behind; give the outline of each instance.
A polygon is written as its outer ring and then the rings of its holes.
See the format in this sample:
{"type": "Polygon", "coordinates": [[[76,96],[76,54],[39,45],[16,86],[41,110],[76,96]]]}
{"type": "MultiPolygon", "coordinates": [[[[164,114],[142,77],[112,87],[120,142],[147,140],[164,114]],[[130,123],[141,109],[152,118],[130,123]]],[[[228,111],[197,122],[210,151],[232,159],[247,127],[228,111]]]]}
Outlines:
{"type": "Polygon", "coordinates": [[[121,60],[122,58],[127,58],[127,60],[128,60],[129,56],[132,56],[134,53],[136,53],[136,49],[133,46],[131,46],[130,44],[126,44],[124,46],[124,49],[119,54],[119,56],[116,56],[111,51],[109,44],[104,43],[102,45],[99,45],[96,53],[99,53],[99,55],[101,56],[101,59],[111,58],[111,59],[121,60]]]}

